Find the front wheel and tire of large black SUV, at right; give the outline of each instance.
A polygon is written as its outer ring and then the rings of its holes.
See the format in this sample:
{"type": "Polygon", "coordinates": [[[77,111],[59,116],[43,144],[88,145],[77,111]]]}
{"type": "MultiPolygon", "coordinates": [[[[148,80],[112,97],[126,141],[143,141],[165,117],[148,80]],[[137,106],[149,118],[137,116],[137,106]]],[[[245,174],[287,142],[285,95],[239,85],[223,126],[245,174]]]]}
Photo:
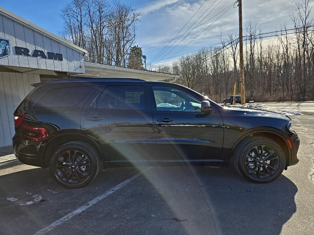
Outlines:
{"type": "Polygon", "coordinates": [[[239,174],[247,180],[254,183],[269,183],[282,174],[286,158],[279,144],[273,140],[251,137],[236,146],[233,163],[239,174]]]}

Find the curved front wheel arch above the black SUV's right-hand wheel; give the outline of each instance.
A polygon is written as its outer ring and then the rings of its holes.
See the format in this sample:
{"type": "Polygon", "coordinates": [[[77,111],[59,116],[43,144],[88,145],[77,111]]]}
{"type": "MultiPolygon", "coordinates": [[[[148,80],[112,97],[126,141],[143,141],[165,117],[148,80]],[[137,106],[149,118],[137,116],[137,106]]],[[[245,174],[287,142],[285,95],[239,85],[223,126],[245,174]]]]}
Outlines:
{"type": "Polygon", "coordinates": [[[287,167],[290,163],[291,160],[291,149],[289,147],[289,144],[286,141],[286,137],[284,136],[284,133],[280,133],[275,130],[254,130],[249,133],[244,134],[239,138],[236,143],[233,145],[232,150],[230,152],[230,159],[233,156],[234,150],[236,149],[236,146],[240,144],[244,139],[252,137],[252,136],[261,136],[261,137],[266,137],[269,138],[273,141],[275,141],[281,149],[284,151],[284,155],[286,158],[286,165],[285,165],[285,170],[287,170],[287,167]]]}

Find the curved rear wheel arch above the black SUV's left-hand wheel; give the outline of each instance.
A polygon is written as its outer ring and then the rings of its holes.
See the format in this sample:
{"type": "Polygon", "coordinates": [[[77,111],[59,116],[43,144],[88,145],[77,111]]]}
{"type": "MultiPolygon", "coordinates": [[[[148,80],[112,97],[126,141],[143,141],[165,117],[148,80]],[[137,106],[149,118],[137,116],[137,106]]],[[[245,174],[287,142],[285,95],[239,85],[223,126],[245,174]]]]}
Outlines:
{"type": "Polygon", "coordinates": [[[103,161],[103,153],[98,146],[98,144],[88,136],[85,136],[80,133],[64,133],[59,134],[53,138],[51,138],[46,144],[44,149],[42,150],[42,156],[43,156],[43,168],[49,167],[49,162],[52,157],[52,154],[56,151],[57,148],[62,146],[63,144],[66,144],[71,141],[83,141],[91,146],[93,146],[97,153],[99,154],[100,159],[103,161]]]}

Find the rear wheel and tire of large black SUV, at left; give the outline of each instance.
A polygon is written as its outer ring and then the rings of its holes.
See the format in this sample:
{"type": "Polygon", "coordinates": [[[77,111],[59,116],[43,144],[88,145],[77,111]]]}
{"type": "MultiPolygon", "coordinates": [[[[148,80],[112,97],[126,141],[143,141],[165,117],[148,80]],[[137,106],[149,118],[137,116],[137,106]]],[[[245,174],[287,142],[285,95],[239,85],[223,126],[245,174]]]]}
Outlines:
{"type": "Polygon", "coordinates": [[[52,177],[63,187],[81,188],[95,179],[100,158],[90,144],[73,141],[54,152],[49,167],[52,177]]]}

